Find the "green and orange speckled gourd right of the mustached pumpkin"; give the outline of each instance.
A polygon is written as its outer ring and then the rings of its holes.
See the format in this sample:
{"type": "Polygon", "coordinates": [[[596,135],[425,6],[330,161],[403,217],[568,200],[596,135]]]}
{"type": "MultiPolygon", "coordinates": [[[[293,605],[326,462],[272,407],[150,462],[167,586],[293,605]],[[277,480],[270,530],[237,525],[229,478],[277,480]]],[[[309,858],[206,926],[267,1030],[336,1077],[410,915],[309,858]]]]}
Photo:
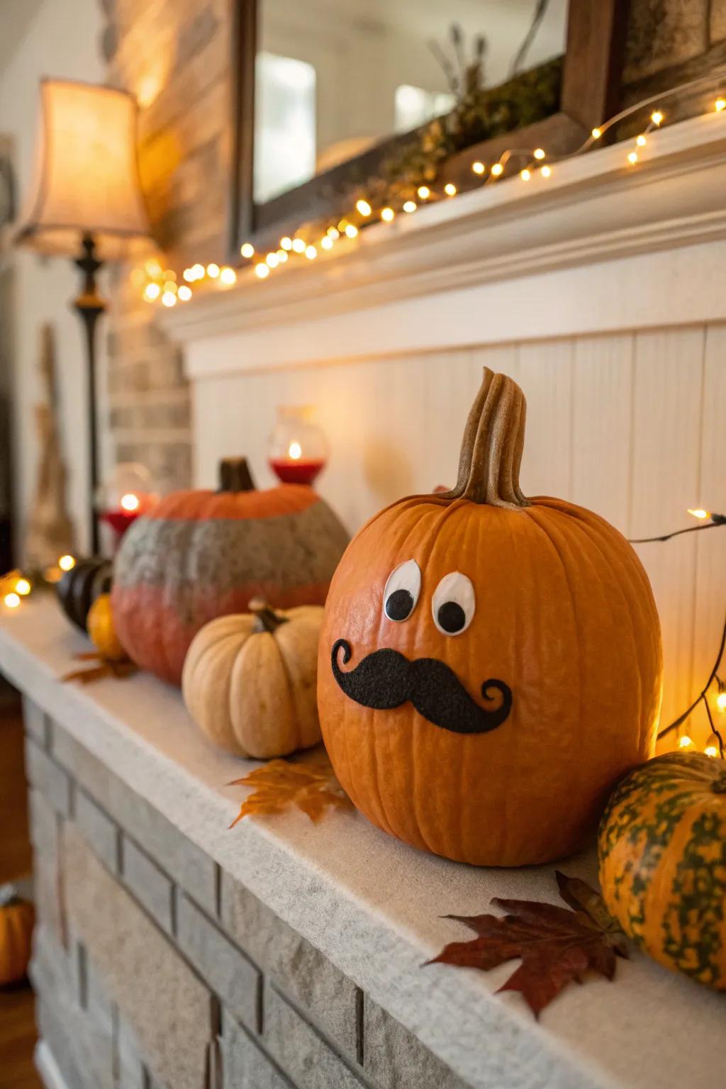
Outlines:
{"type": "Polygon", "coordinates": [[[598,853],[623,930],[666,968],[726,990],[726,762],[667,752],[630,772],[598,853]]]}

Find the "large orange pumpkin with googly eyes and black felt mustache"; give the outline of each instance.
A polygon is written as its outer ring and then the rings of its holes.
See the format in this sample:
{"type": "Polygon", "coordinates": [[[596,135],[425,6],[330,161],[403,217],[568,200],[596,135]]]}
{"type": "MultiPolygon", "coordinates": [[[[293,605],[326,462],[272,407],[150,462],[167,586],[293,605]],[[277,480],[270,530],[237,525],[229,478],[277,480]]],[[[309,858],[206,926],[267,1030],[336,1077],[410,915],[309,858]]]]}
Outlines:
{"type": "Polygon", "coordinates": [[[636,553],[603,518],[519,489],[525,397],[484,370],[456,487],[348,546],[318,702],[355,805],[416,847],[487,866],[580,848],[652,749],[661,636],[636,553]]]}

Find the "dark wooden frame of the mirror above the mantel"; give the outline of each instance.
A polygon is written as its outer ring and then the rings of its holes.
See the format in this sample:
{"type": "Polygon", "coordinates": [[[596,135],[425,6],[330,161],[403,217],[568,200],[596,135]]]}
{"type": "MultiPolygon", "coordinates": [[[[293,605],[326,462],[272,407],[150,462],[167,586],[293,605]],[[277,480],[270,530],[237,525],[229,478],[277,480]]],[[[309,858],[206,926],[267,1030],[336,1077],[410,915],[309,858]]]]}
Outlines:
{"type": "MultiPolygon", "coordinates": [[[[355,185],[377,173],[393,148],[410,134],[395,135],[360,156],[318,174],[309,182],[281,194],[273,200],[254,199],[255,163],[255,61],[258,48],[258,3],[260,0],[231,0],[232,33],[232,178],[230,186],[230,256],[238,260],[243,242],[258,245],[291,232],[303,221],[324,218],[335,211],[341,188],[355,185]]],[[[574,150],[583,136],[612,117],[618,108],[625,36],[630,0],[569,0],[567,46],[564,57],[559,111],[531,125],[527,135],[537,146],[538,135],[549,138],[556,154],[574,150]]],[[[520,130],[520,132],[522,132],[520,130]]],[[[502,137],[472,148],[470,159],[487,149],[502,150],[502,137]],[[476,151],[476,154],[475,154],[476,151]]],[[[460,157],[459,157],[460,158],[460,157]]],[[[446,180],[459,176],[462,163],[446,180]]]]}

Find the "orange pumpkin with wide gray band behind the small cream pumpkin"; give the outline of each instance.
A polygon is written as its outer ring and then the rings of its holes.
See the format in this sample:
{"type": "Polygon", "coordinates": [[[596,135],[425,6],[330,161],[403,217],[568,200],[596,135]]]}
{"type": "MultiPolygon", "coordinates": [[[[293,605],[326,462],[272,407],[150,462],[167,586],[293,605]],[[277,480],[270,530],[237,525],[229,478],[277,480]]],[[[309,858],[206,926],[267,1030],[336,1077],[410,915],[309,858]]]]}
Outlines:
{"type": "Polygon", "coordinates": [[[323,604],[348,540],[311,488],[257,491],[244,460],[221,472],[220,491],[174,492],[138,518],[115,558],[119,638],[137,665],[173,684],[197,632],[246,612],[250,598],[323,604]]]}

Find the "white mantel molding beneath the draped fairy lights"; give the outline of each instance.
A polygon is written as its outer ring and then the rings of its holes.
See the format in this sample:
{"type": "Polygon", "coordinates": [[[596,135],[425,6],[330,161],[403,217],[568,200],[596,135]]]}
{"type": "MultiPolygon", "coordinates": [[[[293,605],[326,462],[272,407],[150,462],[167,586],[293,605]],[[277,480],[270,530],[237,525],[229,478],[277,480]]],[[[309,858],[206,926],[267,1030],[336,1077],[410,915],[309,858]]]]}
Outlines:
{"type": "Polygon", "coordinates": [[[163,321],[192,378],[726,319],[726,114],[444,200],[163,321]],[[617,270],[613,261],[617,260],[617,270]]]}

